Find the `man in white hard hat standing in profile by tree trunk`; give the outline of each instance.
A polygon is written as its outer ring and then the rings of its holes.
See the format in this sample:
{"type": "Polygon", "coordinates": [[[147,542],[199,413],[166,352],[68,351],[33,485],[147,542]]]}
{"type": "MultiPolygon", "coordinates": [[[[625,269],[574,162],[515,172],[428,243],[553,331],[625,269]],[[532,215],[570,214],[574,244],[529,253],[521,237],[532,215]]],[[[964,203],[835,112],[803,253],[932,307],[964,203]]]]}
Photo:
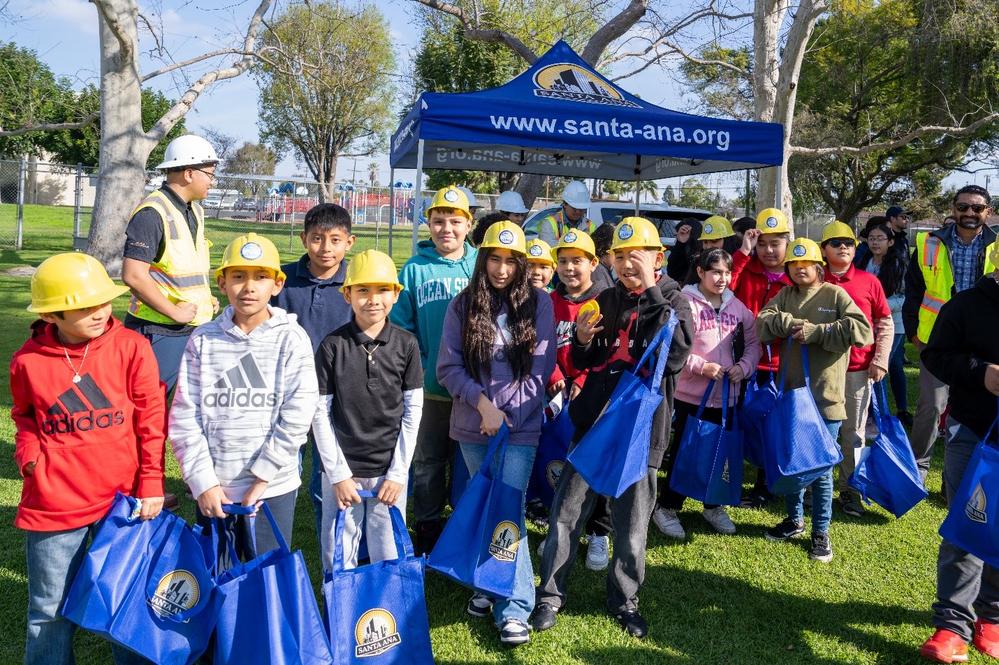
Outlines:
{"type": "Polygon", "coordinates": [[[163,186],[132,213],[125,231],[122,281],[132,290],[125,326],[145,335],[171,390],[181,354],[194,329],[211,321],[212,296],[205,211],[219,158],[200,136],[178,137],[167,146],[163,186]]]}

